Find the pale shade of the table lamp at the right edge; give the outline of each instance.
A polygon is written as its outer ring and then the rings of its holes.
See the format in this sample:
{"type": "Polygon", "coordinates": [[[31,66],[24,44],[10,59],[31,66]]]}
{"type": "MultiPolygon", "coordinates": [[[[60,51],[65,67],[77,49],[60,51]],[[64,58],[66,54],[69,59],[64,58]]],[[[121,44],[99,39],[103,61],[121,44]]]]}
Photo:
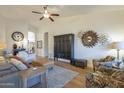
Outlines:
{"type": "Polygon", "coordinates": [[[124,50],[124,42],[112,42],[110,44],[111,49],[124,50]]]}

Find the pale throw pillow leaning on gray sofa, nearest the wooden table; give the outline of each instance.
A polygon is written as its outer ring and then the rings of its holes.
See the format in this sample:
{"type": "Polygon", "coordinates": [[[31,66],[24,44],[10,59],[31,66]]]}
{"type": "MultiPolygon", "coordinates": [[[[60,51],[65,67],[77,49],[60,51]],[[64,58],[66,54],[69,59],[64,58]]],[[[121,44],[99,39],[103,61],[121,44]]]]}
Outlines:
{"type": "Polygon", "coordinates": [[[18,70],[26,70],[28,69],[26,65],[24,65],[21,61],[11,58],[10,63],[12,63],[18,70]]]}

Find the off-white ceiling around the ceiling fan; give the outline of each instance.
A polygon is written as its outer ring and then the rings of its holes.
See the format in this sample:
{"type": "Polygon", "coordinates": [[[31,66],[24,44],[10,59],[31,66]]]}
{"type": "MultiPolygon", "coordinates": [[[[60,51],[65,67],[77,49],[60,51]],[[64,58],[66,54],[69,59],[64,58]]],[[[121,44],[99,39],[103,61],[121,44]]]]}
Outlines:
{"type": "MultiPolygon", "coordinates": [[[[10,19],[36,19],[42,15],[33,14],[31,11],[43,11],[43,6],[39,5],[1,5],[0,15],[10,19]]],[[[101,12],[108,10],[124,10],[124,6],[98,6],[98,5],[50,5],[48,11],[59,13],[60,17],[70,17],[76,15],[85,15],[92,12],[101,12]]]]}

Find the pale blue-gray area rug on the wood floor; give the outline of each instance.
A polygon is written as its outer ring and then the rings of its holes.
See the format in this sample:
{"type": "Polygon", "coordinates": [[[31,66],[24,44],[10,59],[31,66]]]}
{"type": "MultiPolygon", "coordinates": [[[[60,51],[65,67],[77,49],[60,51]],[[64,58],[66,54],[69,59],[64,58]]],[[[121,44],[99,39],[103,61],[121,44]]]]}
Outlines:
{"type": "Polygon", "coordinates": [[[47,74],[48,88],[62,88],[78,74],[78,72],[60,66],[54,66],[47,74]]]}

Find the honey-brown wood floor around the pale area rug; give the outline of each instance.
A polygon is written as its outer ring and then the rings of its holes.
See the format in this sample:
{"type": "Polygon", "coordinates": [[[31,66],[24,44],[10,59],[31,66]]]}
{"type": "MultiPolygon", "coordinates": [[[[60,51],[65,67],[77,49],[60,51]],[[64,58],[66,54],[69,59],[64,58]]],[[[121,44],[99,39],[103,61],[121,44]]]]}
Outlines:
{"type": "Polygon", "coordinates": [[[55,65],[79,72],[79,75],[72,79],[64,88],[84,88],[85,87],[85,74],[93,71],[91,68],[82,69],[75,67],[66,62],[55,62],[55,65]]]}

